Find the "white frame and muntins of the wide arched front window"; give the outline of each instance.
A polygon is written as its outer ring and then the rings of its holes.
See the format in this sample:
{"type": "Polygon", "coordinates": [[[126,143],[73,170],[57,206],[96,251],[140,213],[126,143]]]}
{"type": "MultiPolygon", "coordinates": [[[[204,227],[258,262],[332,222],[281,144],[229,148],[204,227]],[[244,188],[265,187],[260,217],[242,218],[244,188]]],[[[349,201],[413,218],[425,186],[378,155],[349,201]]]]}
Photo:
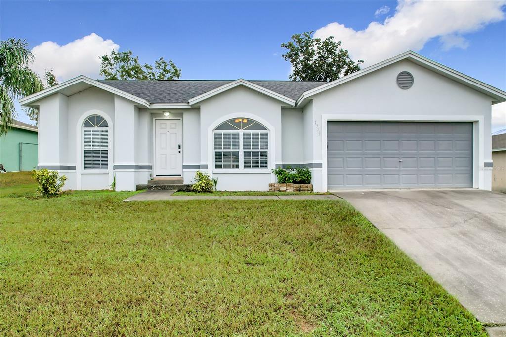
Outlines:
{"type": "MultiPolygon", "coordinates": [[[[233,119],[233,118],[232,118],[233,119]]],[[[270,165],[270,151],[271,151],[271,135],[270,135],[270,132],[269,132],[269,129],[267,129],[265,127],[265,125],[263,125],[262,123],[258,122],[257,120],[255,119],[252,119],[252,118],[248,118],[250,120],[254,120],[255,122],[259,123],[260,125],[262,125],[262,127],[264,127],[266,130],[216,130],[220,127],[220,125],[222,125],[223,123],[226,123],[228,122],[228,120],[230,119],[227,119],[223,122],[221,122],[220,124],[218,124],[218,126],[215,128],[215,130],[213,130],[213,144],[212,144],[212,147],[213,147],[213,170],[216,171],[217,173],[225,173],[227,171],[229,172],[232,172],[232,173],[238,173],[238,172],[252,172],[252,173],[261,173],[261,172],[270,172],[269,171],[269,165],[270,165]],[[239,134],[239,149],[235,150],[235,149],[226,149],[226,150],[223,150],[223,149],[215,149],[215,135],[216,134],[233,134],[233,133],[236,133],[236,134],[239,134]],[[243,140],[244,140],[244,134],[266,134],[267,135],[267,149],[244,149],[243,148],[243,140]],[[216,167],[216,152],[239,152],[239,167],[236,167],[236,168],[220,168],[220,167],[216,167]],[[267,152],[267,167],[246,167],[244,168],[244,152],[267,152]]],[[[222,136],[223,137],[223,136],[222,136]]],[[[223,138],[222,138],[223,139],[223,138]]],[[[260,140],[259,140],[260,141],[260,140]]]]}

